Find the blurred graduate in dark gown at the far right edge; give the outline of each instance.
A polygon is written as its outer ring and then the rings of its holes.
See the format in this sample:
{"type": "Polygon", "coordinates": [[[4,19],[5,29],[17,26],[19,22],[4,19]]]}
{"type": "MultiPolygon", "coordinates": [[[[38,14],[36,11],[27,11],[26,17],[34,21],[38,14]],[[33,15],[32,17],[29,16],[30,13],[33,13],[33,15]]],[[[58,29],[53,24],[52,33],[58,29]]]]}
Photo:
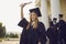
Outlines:
{"type": "Polygon", "coordinates": [[[58,34],[59,34],[61,44],[63,44],[63,43],[66,44],[66,22],[63,20],[63,14],[59,14],[59,21],[58,21],[57,25],[59,29],[58,34]]]}

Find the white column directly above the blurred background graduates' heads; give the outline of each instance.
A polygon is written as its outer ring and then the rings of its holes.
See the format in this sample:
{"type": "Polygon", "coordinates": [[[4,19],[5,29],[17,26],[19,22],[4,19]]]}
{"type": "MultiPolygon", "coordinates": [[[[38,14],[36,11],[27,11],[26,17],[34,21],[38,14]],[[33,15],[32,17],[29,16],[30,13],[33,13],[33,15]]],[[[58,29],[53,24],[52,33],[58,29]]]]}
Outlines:
{"type": "Polygon", "coordinates": [[[57,18],[58,20],[58,14],[61,13],[59,0],[51,0],[51,11],[52,11],[52,20],[53,18],[57,18]]]}

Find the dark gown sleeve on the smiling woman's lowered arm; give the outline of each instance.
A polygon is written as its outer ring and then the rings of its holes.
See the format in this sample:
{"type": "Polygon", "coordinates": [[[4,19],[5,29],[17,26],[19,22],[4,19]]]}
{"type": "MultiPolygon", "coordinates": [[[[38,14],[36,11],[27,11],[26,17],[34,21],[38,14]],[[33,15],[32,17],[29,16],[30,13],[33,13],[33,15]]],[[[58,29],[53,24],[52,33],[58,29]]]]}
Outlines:
{"type": "Polygon", "coordinates": [[[45,43],[47,41],[46,40],[46,31],[45,31],[45,26],[42,22],[40,23],[38,31],[40,31],[38,35],[40,35],[41,43],[45,43]]]}

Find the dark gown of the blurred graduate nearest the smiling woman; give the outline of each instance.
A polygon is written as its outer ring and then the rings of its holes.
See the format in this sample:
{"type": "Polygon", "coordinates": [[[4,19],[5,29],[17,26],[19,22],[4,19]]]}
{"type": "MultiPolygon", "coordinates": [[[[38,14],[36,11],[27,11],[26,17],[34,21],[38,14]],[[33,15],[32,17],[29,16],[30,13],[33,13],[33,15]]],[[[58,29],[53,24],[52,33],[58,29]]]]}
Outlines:
{"type": "Polygon", "coordinates": [[[57,25],[52,25],[47,29],[47,36],[50,38],[50,44],[58,44],[57,43],[57,25]]]}

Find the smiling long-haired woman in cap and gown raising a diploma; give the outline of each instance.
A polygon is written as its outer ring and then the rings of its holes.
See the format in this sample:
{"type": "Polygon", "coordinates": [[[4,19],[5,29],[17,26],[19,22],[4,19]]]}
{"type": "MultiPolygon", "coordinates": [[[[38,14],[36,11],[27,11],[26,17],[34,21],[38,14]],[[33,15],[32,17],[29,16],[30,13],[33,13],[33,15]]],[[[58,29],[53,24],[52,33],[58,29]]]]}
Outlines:
{"type": "Polygon", "coordinates": [[[34,8],[30,9],[30,22],[23,18],[23,8],[29,3],[21,4],[21,21],[19,22],[19,26],[23,28],[20,44],[45,44],[46,35],[45,35],[45,26],[42,22],[38,21],[38,16],[41,15],[40,9],[34,8]]]}

